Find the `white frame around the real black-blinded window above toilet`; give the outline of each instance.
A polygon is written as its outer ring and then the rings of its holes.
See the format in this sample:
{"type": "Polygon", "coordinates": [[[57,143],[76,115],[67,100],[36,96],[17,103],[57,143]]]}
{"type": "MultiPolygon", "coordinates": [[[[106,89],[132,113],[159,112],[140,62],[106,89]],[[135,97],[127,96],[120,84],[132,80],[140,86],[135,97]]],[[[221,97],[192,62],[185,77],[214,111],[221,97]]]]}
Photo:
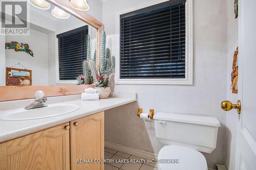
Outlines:
{"type": "Polygon", "coordinates": [[[116,84],[173,84],[173,85],[193,85],[193,0],[187,0],[185,5],[186,15],[186,54],[185,54],[185,78],[184,79],[120,79],[120,15],[150,7],[156,4],[167,2],[168,0],[155,0],[140,4],[133,8],[116,12],[116,84]]]}

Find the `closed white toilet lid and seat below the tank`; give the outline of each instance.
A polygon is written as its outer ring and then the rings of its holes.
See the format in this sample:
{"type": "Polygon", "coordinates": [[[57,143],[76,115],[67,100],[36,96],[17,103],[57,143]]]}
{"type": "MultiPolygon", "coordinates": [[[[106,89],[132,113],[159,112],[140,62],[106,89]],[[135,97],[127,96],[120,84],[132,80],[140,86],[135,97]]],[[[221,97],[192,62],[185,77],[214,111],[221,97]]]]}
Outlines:
{"type": "Polygon", "coordinates": [[[158,153],[158,160],[178,159],[179,163],[158,163],[160,170],[207,170],[205,157],[200,152],[177,145],[167,145],[158,153]]]}

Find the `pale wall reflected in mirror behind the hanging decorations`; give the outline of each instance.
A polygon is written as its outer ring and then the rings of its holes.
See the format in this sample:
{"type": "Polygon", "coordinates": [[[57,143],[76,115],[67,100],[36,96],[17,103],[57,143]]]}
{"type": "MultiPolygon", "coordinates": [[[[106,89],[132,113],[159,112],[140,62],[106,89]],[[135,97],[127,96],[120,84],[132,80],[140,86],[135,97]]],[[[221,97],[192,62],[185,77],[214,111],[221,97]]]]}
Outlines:
{"type": "MultiPolygon", "coordinates": [[[[32,70],[32,85],[48,84],[48,36],[47,34],[30,30],[30,36],[6,36],[6,42],[17,41],[28,43],[34,53],[34,57],[25,52],[15,52],[14,49],[6,50],[6,67],[12,67],[17,63],[32,70]]],[[[15,68],[23,68],[15,66],[15,68]]]]}

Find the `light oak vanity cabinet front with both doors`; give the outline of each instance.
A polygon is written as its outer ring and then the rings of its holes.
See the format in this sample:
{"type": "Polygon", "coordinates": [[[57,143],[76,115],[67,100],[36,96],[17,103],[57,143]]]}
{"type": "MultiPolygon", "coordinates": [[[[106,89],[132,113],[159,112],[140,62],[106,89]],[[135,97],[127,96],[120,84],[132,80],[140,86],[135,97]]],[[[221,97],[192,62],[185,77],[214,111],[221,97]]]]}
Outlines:
{"type": "Polygon", "coordinates": [[[0,143],[0,170],[104,169],[104,112],[0,143]]]}

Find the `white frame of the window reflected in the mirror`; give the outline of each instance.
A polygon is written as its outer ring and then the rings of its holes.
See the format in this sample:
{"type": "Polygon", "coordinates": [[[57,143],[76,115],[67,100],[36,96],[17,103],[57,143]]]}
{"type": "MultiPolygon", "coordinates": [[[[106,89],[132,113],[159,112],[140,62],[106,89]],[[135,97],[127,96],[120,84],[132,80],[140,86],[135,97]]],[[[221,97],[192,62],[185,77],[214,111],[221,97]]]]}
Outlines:
{"type": "MultiPolygon", "coordinates": [[[[87,26],[87,24],[81,23],[80,25],[75,26],[74,28],[63,29],[61,31],[56,32],[56,35],[65,33],[83,26],[87,26]]],[[[88,34],[92,35],[92,27],[88,25],[88,34]]],[[[55,36],[55,63],[56,63],[56,84],[78,84],[76,80],[59,80],[59,51],[58,51],[58,38],[55,36]]],[[[92,45],[92,44],[91,44],[92,45]]],[[[92,49],[92,48],[91,48],[92,49]]]]}

